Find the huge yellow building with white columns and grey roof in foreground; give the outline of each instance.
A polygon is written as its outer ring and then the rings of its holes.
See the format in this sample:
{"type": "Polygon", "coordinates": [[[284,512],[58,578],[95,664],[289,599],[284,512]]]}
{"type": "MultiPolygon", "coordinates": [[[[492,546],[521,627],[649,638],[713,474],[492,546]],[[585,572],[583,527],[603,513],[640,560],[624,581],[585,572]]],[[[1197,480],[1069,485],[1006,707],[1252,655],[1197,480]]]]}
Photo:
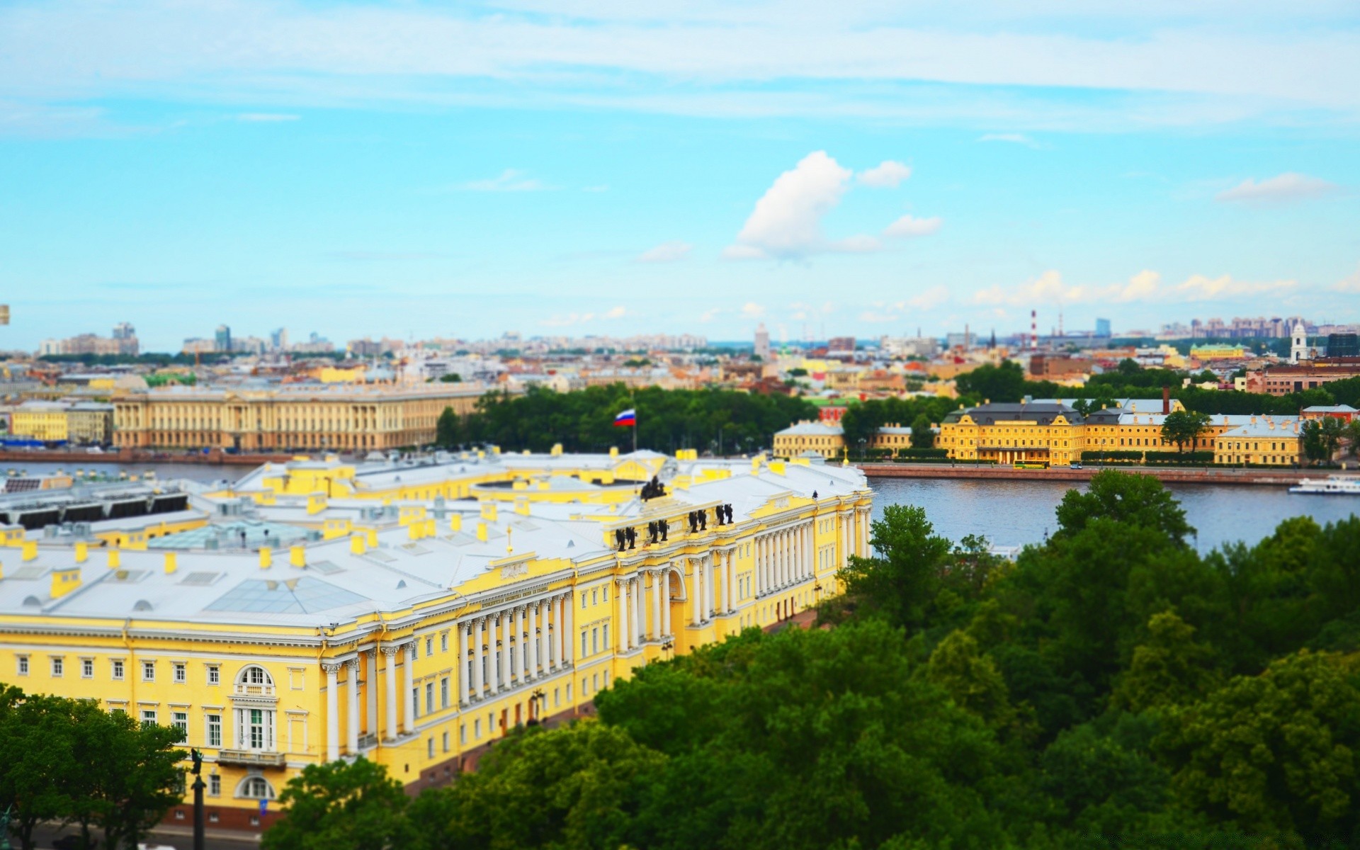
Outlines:
{"type": "Polygon", "coordinates": [[[209,824],[268,826],[260,801],[307,764],[443,782],[641,665],[835,593],[870,498],[854,468],[694,453],[276,464],[146,551],[0,529],[0,677],[181,726],[209,824]]]}

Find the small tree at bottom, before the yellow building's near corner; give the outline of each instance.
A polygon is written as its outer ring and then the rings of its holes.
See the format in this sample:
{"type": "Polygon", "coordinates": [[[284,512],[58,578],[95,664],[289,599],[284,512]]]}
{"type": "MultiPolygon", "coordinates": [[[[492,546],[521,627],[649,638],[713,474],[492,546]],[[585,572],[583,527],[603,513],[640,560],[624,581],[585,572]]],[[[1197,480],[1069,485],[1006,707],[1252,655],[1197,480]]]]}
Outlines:
{"type": "Polygon", "coordinates": [[[354,762],[309,764],[279,794],[280,817],[264,834],[262,850],[386,850],[412,839],[407,793],[388,768],[354,762]]]}

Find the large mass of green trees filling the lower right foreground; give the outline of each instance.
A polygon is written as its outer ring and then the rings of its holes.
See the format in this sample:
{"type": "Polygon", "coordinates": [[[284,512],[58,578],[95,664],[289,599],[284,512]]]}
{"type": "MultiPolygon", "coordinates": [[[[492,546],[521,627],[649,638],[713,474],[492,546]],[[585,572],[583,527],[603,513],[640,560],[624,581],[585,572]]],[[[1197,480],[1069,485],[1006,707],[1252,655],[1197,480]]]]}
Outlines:
{"type": "Polygon", "coordinates": [[[653,664],[407,801],[309,767],[264,850],[1360,843],[1360,520],[1201,556],[1102,472],[1017,560],[889,506],[828,628],[653,664]]]}

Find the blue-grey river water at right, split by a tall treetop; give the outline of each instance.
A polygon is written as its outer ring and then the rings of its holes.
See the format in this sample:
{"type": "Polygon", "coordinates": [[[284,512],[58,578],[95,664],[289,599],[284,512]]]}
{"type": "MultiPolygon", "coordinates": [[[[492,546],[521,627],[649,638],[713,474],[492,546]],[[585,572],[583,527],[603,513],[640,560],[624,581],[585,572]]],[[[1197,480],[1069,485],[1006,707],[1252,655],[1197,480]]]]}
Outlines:
{"type": "MultiPolygon", "coordinates": [[[[951,540],[982,534],[994,545],[1039,543],[1058,528],[1054,509],[1072,487],[1069,481],[989,481],[976,479],[869,479],[874,491],[873,515],[888,505],[918,505],[936,533],[951,540]]],[[[1201,552],[1224,543],[1257,543],[1289,517],[1312,517],[1319,524],[1360,514],[1360,496],[1314,496],[1278,487],[1213,487],[1168,484],[1186,520],[1198,532],[1191,543],[1201,552]]]]}

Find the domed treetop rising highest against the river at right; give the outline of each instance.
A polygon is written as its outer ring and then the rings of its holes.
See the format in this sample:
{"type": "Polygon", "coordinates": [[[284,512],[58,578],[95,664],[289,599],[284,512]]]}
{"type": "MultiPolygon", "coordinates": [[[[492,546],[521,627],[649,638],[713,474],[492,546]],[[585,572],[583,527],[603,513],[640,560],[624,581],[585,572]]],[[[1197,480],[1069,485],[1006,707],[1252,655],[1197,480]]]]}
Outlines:
{"type": "Polygon", "coordinates": [[[1118,469],[1093,475],[1087,492],[1069,490],[1057,513],[1059,534],[1072,534],[1098,518],[1152,528],[1176,543],[1194,530],[1161,481],[1118,469]]]}

